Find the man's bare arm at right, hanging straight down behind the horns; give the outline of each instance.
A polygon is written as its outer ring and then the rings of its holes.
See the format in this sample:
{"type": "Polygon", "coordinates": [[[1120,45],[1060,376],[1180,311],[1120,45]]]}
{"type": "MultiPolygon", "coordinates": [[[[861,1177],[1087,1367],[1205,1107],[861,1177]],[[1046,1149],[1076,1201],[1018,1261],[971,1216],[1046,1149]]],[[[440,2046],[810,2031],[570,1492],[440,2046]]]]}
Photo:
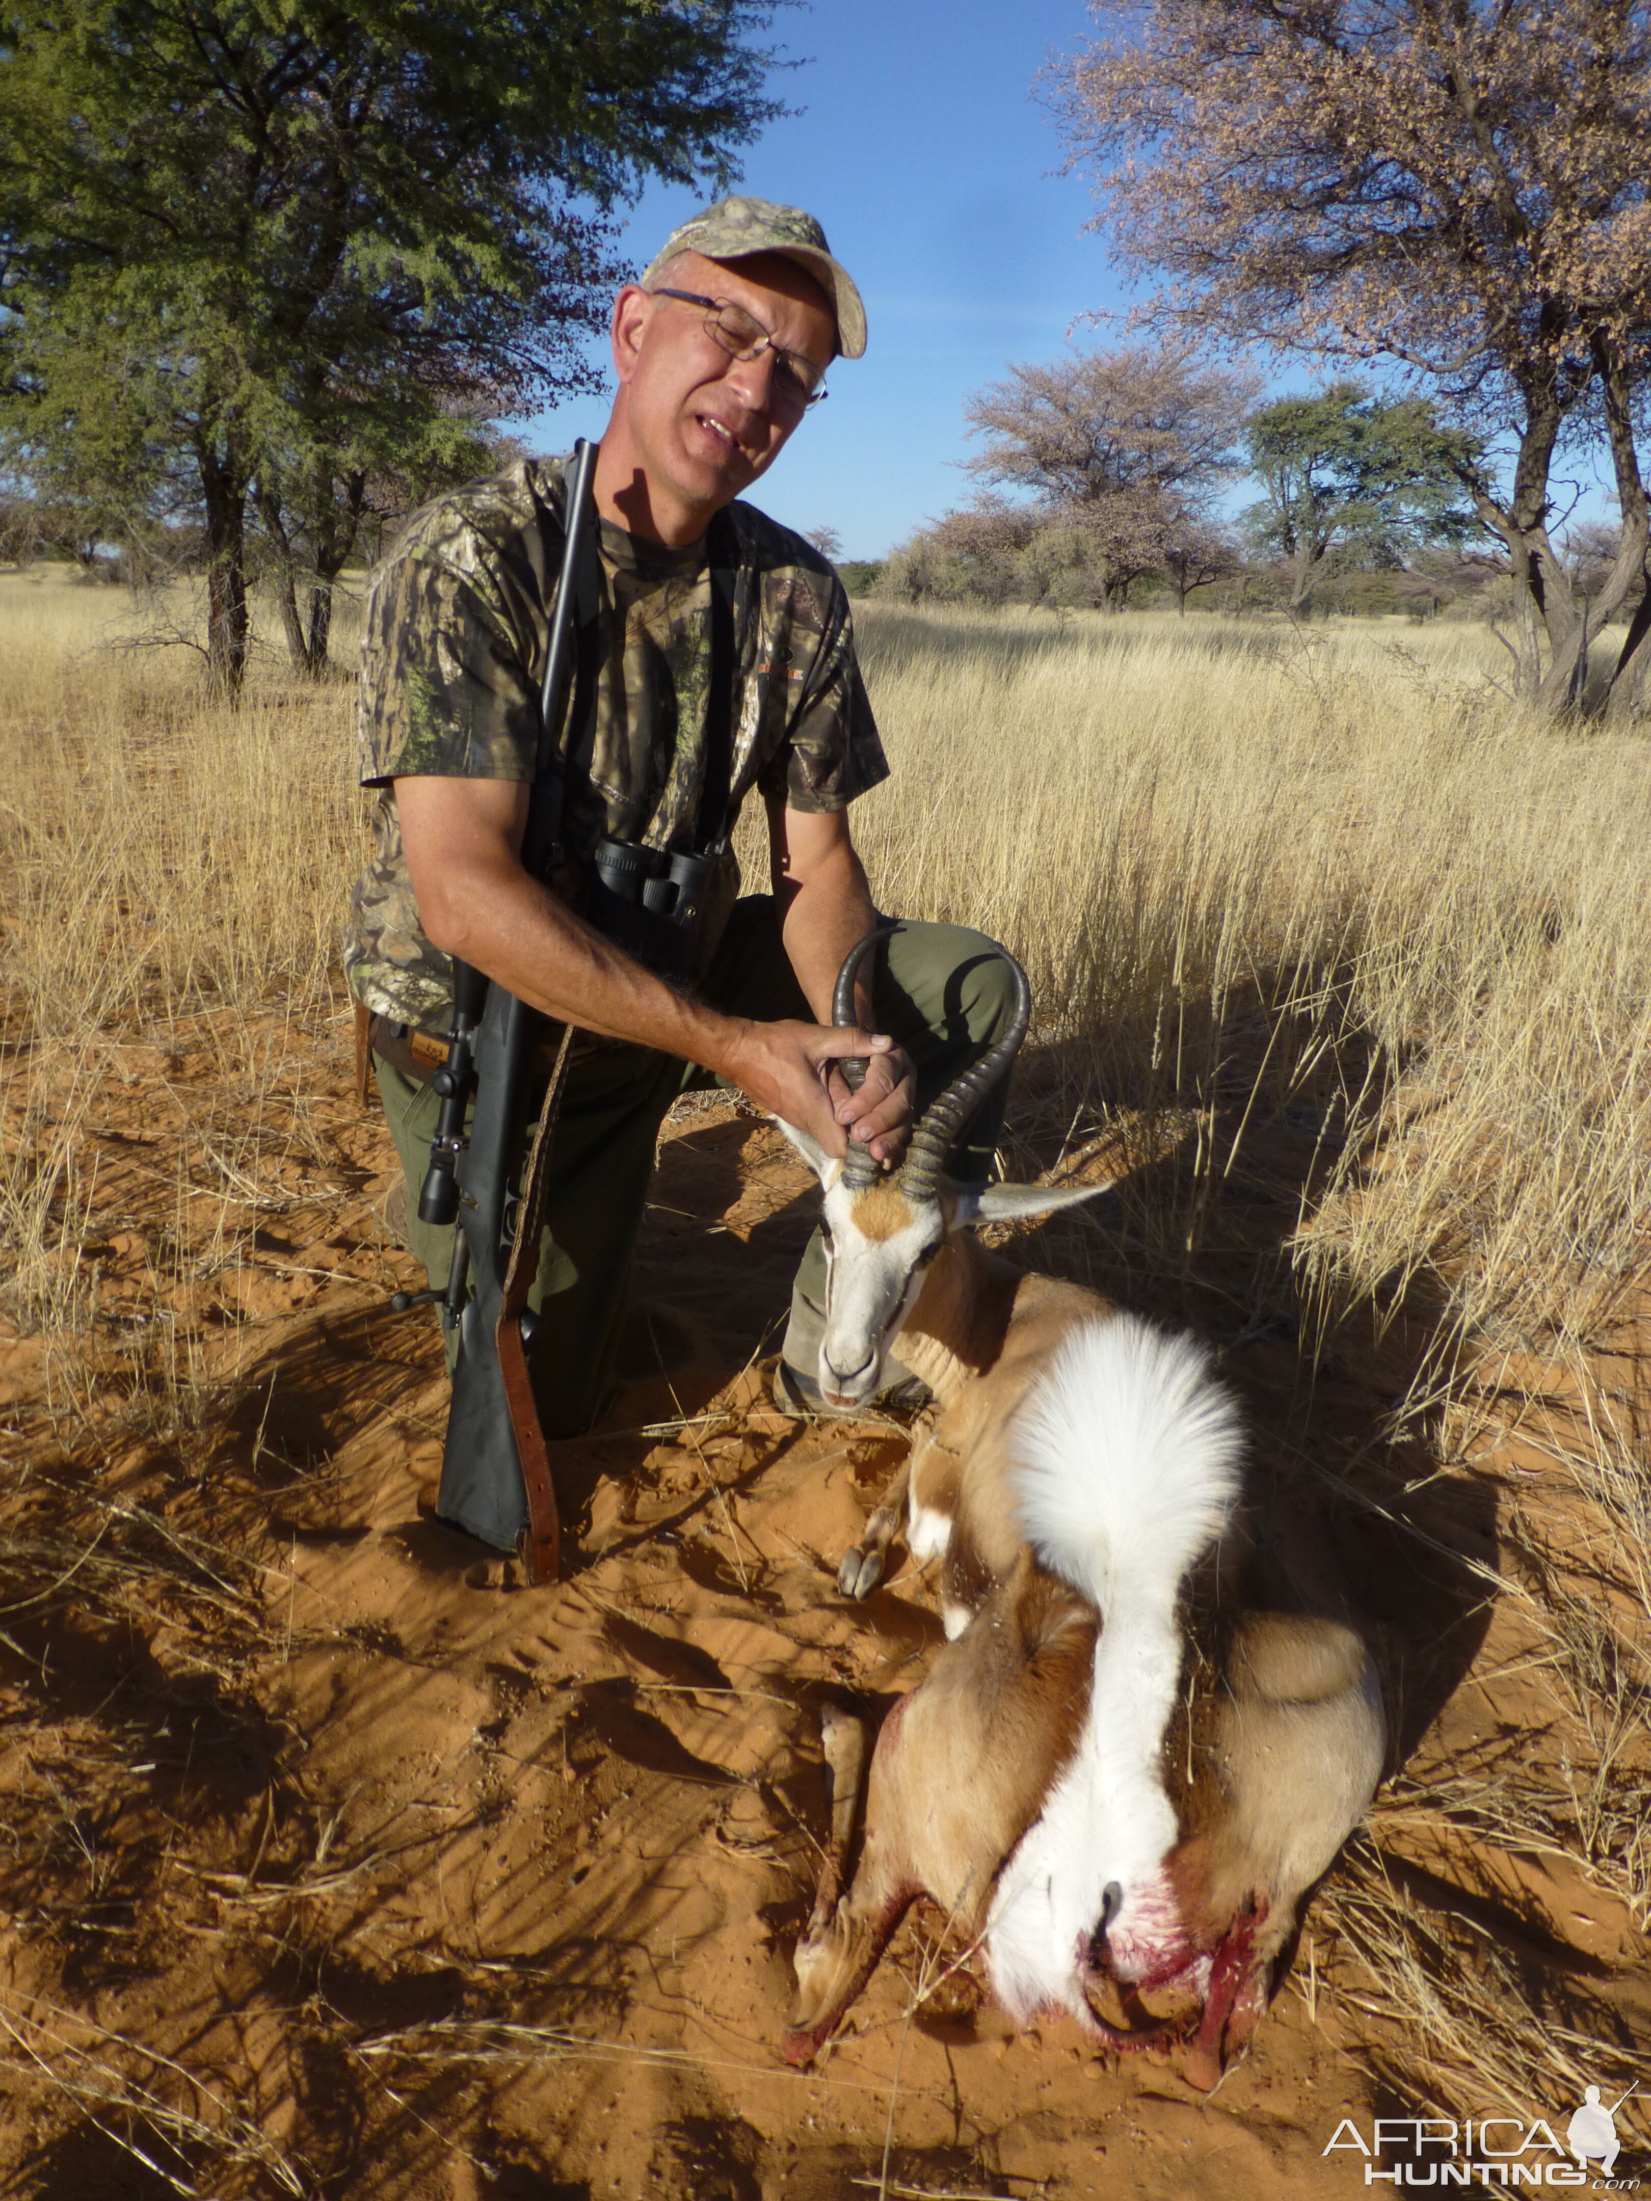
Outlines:
{"type": "MultiPolygon", "coordinates": [[[[768,852],[779,933],[797,984],[821,1023],[832,1021],[832,990],[843,957],[876,924],[865,867],[854,852],[845,810],[790,810],[768,799],[768,852]]],[[[861,964],[854,1012],[870,1030],[872,975],[861,964]]],[[[845,1054],[852,1050],[843,1050],[845,1054]]],[[[854,1094],[830,1074],[837,1120],[865,1140],[878,1162],[896,1162],[911,1131],[916,1072],[900,1048],[874,1054],[854,1094]]]]}

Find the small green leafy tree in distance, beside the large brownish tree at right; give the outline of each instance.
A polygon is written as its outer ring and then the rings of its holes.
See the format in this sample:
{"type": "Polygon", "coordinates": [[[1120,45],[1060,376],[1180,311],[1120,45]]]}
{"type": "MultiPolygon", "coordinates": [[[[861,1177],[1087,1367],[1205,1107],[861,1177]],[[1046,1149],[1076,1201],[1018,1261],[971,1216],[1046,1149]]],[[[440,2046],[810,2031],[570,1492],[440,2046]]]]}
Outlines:
{"type": "Polygon", "coordinates": [[[1400,566],[1477,533],[1459,502],[1477,445],[1442,429],[1422,398],[1382,403],[1360,383],[1332,383],[1264,405],[1244,442],[1264,491],[1246,528],[1290,568],[1292,612],[1308,610],[1338,566],[1400,566]]]}

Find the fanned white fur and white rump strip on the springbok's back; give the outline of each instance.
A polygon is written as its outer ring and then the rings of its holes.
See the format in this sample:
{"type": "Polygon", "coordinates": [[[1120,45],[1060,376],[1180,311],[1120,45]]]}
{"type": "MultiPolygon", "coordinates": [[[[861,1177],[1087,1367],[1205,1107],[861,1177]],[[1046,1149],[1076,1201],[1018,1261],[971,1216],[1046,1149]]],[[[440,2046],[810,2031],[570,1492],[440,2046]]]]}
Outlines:
{"type": "Polygon", "coordinates": [[[1004,1866],[986,1935],[993,1985],[1024,2023],[1085,2016],[1079,1959],[1120,1899],[1107,1950],[1120,1979],[1176,1943],[1165,1860],[1176,1809],[1160,1752],[1180,1682],[1176,1598],[1239,1490],[1239,1413],[1209,1356],[1131,1314],[1074,1329],[1010,1428],[1010,1479],[1039,1561],[1101,1611],[1076,1754],[1004,1866]]]}

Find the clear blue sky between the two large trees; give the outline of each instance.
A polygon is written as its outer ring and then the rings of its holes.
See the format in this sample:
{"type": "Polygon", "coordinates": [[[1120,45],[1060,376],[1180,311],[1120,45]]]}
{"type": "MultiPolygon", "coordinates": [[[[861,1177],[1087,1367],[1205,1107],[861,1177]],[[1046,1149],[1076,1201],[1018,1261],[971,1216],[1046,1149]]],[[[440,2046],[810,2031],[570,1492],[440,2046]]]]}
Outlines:
{"type": "MultiPolygon", "coordinates": [[[[1059,174],[1032,90],[1087,29],[1081,0],[819,0],[775,22],[803,66],[770,88],[799,112],[746,147],[740,189],[819,216],[865,297],[867,350],[837,361],[755,502],[837,528],[845,557],[881,557],[962,504],[969,392],[1010,359],[1059,357],[1081,315],[1120,304],[1083,231],[1087,185],[1059,174]]],[[[623,249],[645,264],[702,196],[649,189],[623,249]]],[[[603,401],[577,398],[522,434],[555,451],[603,418],[603,401]]]]}

